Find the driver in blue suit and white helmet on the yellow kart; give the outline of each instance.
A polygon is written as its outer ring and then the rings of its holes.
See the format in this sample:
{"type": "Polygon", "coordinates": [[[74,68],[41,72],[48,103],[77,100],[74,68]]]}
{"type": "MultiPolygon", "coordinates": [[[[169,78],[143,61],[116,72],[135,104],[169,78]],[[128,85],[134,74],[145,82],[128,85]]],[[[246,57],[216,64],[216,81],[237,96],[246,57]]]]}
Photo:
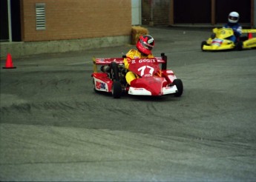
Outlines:
{"type": "Polygon", "coordinates": [[[229,39],[234,43],[239,41],[239,37],[242,34],[242,27],[240,26],[240,24],[238,24],[238,20],[239,20],[239,14],[233,11],[232,13],[229,13],[229,22],[225,24],[223,27],[223,28],[232,28],[232,30],[234,31],[234,36],[231,36],[229,39]]]}

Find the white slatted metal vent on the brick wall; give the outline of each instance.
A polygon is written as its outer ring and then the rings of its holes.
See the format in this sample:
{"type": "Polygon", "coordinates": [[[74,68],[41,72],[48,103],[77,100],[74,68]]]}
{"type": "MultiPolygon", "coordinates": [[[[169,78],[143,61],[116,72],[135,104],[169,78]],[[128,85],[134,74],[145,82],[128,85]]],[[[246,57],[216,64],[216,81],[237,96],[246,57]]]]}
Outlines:
{"type": "Polygon", "coordinates": [[[45,29],[45,3],[36,3],[36,30],[45,29]]]}

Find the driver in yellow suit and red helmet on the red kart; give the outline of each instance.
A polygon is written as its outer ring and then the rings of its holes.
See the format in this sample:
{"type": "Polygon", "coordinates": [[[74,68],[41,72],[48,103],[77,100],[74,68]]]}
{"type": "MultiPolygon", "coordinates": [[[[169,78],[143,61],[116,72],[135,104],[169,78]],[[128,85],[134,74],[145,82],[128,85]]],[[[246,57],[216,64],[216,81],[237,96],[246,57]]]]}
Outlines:
{"type": "MultiPolygon", "coordinates": [[[[131,60],[134,58],[154,58],[154,55],[152,55],[151,50],[154,47],[154,38],[145,35],[140,36],[139,40],[137,41],[137,50],[129,50],[129,52],[126,54],[126,58],[124,58],[124,64],[125,69],[129,70],[129,65],[131,63],[131,60]]],[[[131,71],[128,71],[125,75],[125,79],[128,84],[131,85],[131,81],[133,81],[137,76],[132,73],[131,71]]]]}

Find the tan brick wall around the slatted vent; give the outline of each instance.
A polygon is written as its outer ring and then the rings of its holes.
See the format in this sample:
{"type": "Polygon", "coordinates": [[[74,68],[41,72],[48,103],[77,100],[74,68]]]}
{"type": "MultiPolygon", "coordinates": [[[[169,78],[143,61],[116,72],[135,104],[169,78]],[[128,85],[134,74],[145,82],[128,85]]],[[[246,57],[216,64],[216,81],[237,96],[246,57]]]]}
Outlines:
{"type": "Polygon", "coordinates": [[[131,35],[131,0],[22,0],[22,41],[131,35]],[[45,3],[46,30],[36,30],[45,3]]]}

